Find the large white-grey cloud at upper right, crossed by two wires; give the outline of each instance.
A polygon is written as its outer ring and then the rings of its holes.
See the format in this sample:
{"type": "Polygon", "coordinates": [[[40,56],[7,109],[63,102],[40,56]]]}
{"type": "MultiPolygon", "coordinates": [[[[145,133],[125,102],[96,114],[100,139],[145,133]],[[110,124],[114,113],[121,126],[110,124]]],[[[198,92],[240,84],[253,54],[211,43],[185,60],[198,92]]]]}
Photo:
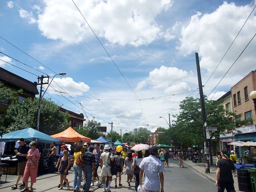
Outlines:
{"type": "MultiPolygon", "coordinates": [[[[254,7],[254,5],[252,5],[254,7]]],[[[244,22],[248,18],[252,8],[250,5],[236,6],[234,3],[224,2],[216,11],[202,15],[200,12],[191,17],[188,26],[182,28],[181,45],[178,48],[184,54],[192,54],[198,51],[201,58],[200,66],[212,73],[226,50],[238,34],[244,22]]],[[[238,58],[242,50],[254,36],[256,31],[256,16],[252,14],[236,41],[218,66],[215,77],[225,74],[232,63],[238,58]]],[[[255,69],[256,41],[242,54],[239,60],[231,68],[227,76],[233,74],[248,73],[255,69]],[[246,68],[244,66],[247,66],[246,68]]],[[[213,76],[213,77],[214,77],[213,76]]]]}

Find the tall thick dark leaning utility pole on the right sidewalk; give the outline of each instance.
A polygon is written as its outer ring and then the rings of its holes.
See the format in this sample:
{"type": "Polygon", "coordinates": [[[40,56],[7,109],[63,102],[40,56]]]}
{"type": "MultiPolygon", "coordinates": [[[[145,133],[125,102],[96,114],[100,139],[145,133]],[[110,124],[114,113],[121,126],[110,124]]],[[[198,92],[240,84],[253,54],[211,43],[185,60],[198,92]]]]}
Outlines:
{"type": "MultiPolygon", "coordinates": [[[[199,93],[200,93],[200,102],[201,102],[201,111],[202,111],[202,128],[204,130],[204,148],[209,148],[207,139],[206,139],[206,114],[205,114],[205,106],[204,106],[204,94],[202,87],[202,79],[199,65],[198,53],[196,53],[196,69],[197,69],[197,77],[198,77],[198,85],[199,85],[199,93]]],[[[207,154],[204,153],[204,161],[205,161],[205,173],[210,173],[210,165],[209,160],[207,160],[207,154]]]]}

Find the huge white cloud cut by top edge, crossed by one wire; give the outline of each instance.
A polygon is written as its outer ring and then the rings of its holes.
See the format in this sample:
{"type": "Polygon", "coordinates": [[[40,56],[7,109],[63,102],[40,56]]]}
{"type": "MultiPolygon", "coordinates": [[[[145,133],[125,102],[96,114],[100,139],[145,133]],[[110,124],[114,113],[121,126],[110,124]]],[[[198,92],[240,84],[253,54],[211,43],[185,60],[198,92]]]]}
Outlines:
{"type": "MultiPolygon", "coordinates": [[[[110,44],[132,46],[147,45],[165,37],[170,40],[170,31],[162,32],[155,18],[172,6],[173,0],[107,0],[76,1],[76,5],[94,32],[110,44]]],[[[71,1],[44,1],[46,7],[38,16],[42,34],[54,40],[77,43],[92,35],[88,25],[71,1]],[[65,18],[65,19],[63,19],[65,18]]]]}

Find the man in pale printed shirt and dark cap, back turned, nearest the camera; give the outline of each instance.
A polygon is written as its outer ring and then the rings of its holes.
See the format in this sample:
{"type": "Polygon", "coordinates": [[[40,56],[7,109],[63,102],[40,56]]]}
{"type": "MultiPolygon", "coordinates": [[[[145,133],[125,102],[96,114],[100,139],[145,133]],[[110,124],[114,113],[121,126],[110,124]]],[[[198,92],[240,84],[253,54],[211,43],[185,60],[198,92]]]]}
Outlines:
{"type": "Polygon", "coordinates": [[[140,185],[142,185],[143,172],[145,170],[145,192],[164,192],[164,165],[156,158],[158,150],[156,146],[150,148],[150,156],[143,158],[140,163],[140,185]],[[160,182],[159,182],[160,178],[160,182]]]}

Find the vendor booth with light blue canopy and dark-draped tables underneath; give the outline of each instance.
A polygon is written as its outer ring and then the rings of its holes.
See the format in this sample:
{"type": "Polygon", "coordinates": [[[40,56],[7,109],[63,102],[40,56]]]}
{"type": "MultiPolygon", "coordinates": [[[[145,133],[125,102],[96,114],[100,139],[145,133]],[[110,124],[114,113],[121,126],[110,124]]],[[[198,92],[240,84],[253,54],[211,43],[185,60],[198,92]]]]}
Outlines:
{"type": "MultiPolygon", "coordinates": [[[[17,173],[17,166],[18,166],[18,159],[14,154],[14,148],[17,148],[18,145],[16,141],[20,138],[24,138],[26,144],[29,144],[31,141],[38,142],[37,148],[41,153],[41,158],[38,164],[38,174],[43,174],[48,172],[49,163],[48,163],[48,151],[49,151],[49,144],[55,142],[56,145],[60,145],[61,141],[44,134],[40,131],[37,131],[33,128],[26,128],[22,130],[17,130],[14,132],[10,132],[4,134],[2,137],[2,142],[5,142],[5,150],[4,155],[1,158],[1,162],[6,164],[8,169],[2,166],[1,171],[6,171],[4,174],[16,174],[17,173]],[[46,154],[47,153],[47,154],[46,154]],[[45,155],[46,154],[46,155],[45,155]]],[[[56,160],[57,162],[57,160],[56,160]]]]}

